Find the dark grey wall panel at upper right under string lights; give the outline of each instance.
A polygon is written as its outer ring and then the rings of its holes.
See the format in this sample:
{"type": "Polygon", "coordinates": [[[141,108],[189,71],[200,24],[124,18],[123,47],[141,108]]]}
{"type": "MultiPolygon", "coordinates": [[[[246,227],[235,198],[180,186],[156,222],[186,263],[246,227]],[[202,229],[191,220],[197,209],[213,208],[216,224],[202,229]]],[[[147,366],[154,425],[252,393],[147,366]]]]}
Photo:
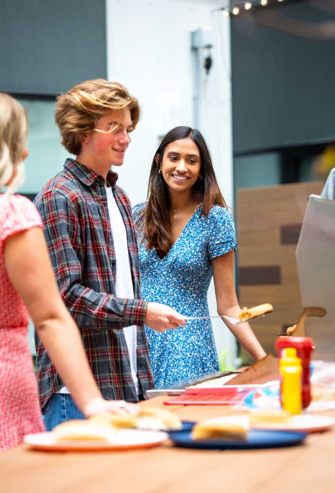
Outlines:
{"type": "Polygon", "coordinates": [[[235,154],[334,139],[335,10],[321,3],[232,16],[235,154]]]}

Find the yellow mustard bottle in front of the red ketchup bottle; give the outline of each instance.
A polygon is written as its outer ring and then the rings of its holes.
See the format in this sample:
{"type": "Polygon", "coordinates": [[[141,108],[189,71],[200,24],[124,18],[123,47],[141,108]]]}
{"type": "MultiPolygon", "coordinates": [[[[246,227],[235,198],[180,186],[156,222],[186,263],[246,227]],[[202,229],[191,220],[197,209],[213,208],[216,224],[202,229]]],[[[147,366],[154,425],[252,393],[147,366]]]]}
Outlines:
{"type": "Polygon", "coordinates": [[[282,351],[279,360],[280,400],[282,408],[292,414],[302,411],[302,361],[295,348],[282,351]]]}

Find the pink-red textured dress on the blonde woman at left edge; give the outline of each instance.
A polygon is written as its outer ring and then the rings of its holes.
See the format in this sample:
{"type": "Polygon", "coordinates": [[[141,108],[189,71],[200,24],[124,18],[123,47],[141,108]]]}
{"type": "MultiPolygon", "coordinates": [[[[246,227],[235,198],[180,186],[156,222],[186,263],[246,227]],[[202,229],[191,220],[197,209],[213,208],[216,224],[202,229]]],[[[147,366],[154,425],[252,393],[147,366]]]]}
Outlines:
{"type": "Polygon", "coordinates": [[[27,339],[29,314],[4,265],[5,240],[36,226],[43,227],[30,200],[0,194],[0,452],[19,445],[27,433],[44,431],[27,339]]]}

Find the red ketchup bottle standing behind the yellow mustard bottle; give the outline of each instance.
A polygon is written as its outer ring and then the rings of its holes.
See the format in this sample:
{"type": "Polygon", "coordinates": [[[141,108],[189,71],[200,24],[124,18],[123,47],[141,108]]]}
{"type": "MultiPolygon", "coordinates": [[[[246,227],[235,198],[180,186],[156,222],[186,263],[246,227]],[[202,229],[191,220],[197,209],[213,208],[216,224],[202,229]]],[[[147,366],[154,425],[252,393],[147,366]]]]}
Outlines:
{"type": "Polygon", "coordinates": [[[279,336],[275,345],[278,358],[281,358],[281,352],[285,348],[295,348],[298,358],[302,360],[302,407],[306,408],[311,401],[309,376],[310,353],[314,351],[313,339],[310,337],[279,336]]]}

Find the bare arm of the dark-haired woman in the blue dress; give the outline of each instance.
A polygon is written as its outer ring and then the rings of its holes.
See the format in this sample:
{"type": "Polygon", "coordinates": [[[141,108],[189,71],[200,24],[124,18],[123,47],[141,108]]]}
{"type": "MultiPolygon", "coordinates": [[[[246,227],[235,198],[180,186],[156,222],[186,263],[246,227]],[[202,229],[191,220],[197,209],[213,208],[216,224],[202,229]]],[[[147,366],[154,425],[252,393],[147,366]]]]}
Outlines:
{"type": "MultiPolygon", "coordinates": [[[[217,311],[219,315],[238,318],[238,305],[234,288],[234,250],[211,260],[217,311]]],[[[231,332],[242,346],[256,359],[266,356],[250,325],[245,322],[234,325],[225,320],[231,332]]]]}

